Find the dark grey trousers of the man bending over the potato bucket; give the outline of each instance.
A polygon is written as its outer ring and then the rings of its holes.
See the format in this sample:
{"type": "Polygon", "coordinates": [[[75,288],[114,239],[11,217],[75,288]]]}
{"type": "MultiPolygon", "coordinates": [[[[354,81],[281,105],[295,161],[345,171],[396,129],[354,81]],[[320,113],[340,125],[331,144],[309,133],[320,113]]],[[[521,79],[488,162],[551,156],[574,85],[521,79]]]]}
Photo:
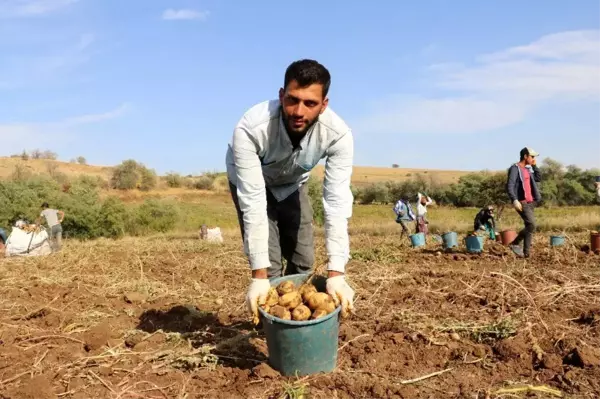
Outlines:
{"type": "MultiPolygon", "coordinates": [[[[242,240],[244,238],[244,215],[240,210],[237,188],[229,183],[231,198],[238,215],[242,240]]],[[[284,274],[282,259],[286,260],[285,275],[308,274],[315,262],[313,209],[308,196],[308,187],[281,202],[267,191],[267,217],[269,219],[269,260],[267,274],[281,277],[284,274]]]]}

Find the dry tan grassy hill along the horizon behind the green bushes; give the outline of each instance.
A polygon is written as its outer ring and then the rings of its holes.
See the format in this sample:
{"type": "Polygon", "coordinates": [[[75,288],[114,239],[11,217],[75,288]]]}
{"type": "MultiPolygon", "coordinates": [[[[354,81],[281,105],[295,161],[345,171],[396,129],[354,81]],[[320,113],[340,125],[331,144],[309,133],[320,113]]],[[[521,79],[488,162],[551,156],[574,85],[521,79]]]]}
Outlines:
{"type": "MultiPolygon", "coordinates": [[[[71,162],[54,161],[47,159],[29,159],[0,157],[0,179],[10,177],[16,168],[22,168],[32,174],[62,173],[67,177],[79,175],[99,176],[105,180],[110,179],[112,167],[80,165],[71,162]]],[[[313,173],[323,178],[325,172],[323,165],[317,165],[313,173]]],[[[370,166],[355,166],[352,175],[352,184],[365,186],[372,183],[384,181],[402,182],[414,178],[417,174],[427,176],[435,181],[448,184],[457,182],[458,179],[470,172],[459,170],[428,170],[411,168],[377,168],[370,166]]]]}

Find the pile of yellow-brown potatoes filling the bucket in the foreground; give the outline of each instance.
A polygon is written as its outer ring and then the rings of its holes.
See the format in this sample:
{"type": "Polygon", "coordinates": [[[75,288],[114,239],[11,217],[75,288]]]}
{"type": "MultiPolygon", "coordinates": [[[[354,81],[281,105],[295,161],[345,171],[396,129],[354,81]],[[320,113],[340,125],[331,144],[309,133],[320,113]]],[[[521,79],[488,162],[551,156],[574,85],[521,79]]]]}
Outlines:
{"type": "Polygon", "coordinates": [[[318,292],[312,284],[299,288],[292,281],[283,281],[277,288],[271,287],[262,308],[283,320],[304,321],[318,319],[335,310],[331,295],[318,292]]]}

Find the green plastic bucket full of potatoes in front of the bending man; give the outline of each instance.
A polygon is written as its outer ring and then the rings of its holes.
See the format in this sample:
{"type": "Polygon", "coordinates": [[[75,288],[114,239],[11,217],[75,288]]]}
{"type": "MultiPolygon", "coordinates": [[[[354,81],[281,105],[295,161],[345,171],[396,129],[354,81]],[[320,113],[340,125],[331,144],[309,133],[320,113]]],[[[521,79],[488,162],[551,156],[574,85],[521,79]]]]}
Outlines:
{"type": "MultiPolygon", "coordinates": [[[[299,286],[307,274],[294,274],[271,280],[271,286],[292,280],[299,286]]],[[[326,279],[315,276],[317,291],[325,292],[326,279]]],[[[337,364],[339,314],[341,306],[316,320],[282,320],[259,308],[269,350],[269,364],[284,376],[304,376],[330,372],[337,364]]]]}

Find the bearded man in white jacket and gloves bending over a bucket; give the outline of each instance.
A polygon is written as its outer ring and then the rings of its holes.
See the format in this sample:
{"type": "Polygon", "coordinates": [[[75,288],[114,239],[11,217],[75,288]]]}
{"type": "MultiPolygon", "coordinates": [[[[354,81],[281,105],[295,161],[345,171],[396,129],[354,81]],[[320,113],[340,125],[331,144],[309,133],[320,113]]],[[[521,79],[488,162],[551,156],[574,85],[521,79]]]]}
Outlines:
{"type": "Polygon", "coordinates": [[[279,99],[253,106],[240,119],[227,150],[227,175],[252,269],[246,303],[258,321],[269,278],[310,273],[314,263],[310,171],[325,158],[323,206],[327,292],[343,311],[353,308],[345,280],[354,143],[350,128],[327,107],[331,77],[313,60],[292,63],[279,99]]]}

